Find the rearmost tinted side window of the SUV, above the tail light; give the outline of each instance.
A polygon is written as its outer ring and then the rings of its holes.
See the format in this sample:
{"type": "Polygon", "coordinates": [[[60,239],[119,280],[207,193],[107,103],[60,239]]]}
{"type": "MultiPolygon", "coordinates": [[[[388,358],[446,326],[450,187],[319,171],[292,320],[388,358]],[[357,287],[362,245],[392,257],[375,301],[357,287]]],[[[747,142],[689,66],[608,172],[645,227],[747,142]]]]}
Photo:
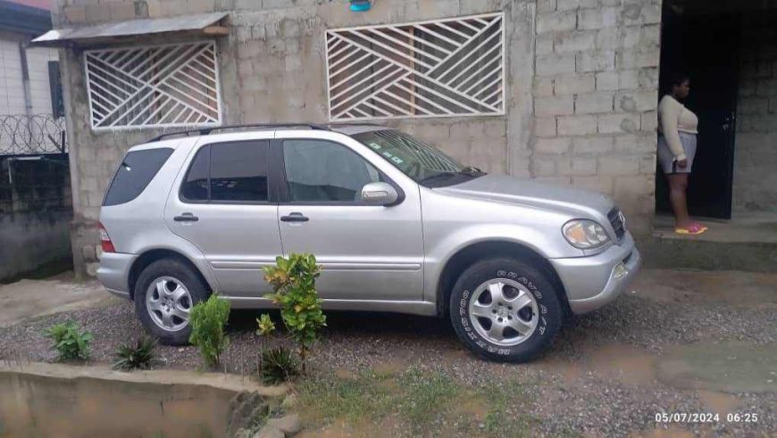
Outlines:
{"type": "Polygon", "coordinates": [[[124,156],[113,177],[103,206],[119,205],[137,198],[172,153],[170,148],[133,151],[124,156]]]}

